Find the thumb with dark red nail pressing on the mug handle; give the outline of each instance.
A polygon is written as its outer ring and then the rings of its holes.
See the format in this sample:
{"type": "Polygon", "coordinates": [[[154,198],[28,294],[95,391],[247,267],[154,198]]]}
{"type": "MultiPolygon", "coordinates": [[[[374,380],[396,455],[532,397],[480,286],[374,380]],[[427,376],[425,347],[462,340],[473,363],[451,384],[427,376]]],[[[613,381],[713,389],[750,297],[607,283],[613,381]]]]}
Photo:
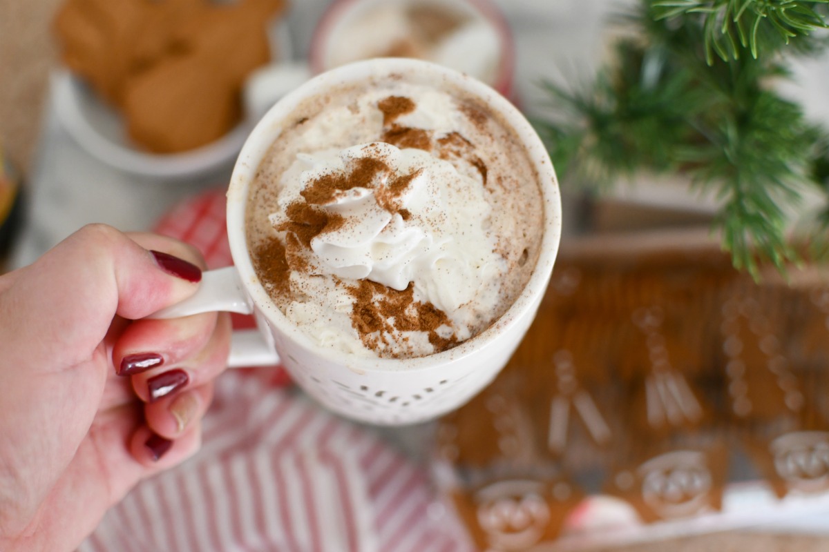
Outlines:
{"type": "Polygon", "coordinates": [[[0,362],[54,371],[89,361],[116,314],[139,319],[192,295],[201,270],[92,224],[7,276],[0,343],[11,347],[0,362]]]}

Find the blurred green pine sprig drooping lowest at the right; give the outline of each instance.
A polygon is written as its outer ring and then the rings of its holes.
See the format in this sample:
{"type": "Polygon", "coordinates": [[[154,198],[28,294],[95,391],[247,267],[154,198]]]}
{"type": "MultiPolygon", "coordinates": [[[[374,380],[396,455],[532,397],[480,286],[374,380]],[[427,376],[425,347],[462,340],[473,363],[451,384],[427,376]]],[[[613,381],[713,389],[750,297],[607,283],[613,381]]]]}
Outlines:
{"type": "Polygon", "coordinates": [[[797,185],[809,178],[816,131],[797,105],[768,91],[758,91],[745,111],[720,114],[707,122],[710,140],[688,148],[691,174],[724,202],[717,225],[734,266],[755,277],[764,262],[783,271],[800,260],[786,212],[802,208],[797,185]]]}

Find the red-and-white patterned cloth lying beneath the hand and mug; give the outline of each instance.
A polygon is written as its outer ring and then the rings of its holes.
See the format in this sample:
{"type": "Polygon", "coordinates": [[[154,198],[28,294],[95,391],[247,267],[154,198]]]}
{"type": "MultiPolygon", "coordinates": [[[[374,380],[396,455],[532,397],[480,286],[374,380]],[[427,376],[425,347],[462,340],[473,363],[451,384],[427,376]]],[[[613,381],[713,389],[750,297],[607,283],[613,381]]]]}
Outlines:
{"type": "MultiPolygon", "coordinates": [[[[224,205],[221,192],[201,194],[157,230],[226,266],[224,205]]],[[[80,552],[472,550],[422,467],[287,383],[274,368],[222,375],[199,453],[140,483],[80,552]]]]}

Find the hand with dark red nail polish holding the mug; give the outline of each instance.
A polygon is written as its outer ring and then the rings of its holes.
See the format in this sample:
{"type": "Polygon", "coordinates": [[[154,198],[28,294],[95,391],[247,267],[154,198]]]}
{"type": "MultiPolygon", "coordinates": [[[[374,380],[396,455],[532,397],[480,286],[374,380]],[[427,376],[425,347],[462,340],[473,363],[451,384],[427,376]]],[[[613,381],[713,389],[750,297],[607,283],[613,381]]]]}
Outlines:
{"type": "Polygon", "coordinates": [[[171,238],[90,225],[0,276],[0,550],[75,550],[196,452],[230,319],[143,319],[196,291],[196,265],[171,238]]]}

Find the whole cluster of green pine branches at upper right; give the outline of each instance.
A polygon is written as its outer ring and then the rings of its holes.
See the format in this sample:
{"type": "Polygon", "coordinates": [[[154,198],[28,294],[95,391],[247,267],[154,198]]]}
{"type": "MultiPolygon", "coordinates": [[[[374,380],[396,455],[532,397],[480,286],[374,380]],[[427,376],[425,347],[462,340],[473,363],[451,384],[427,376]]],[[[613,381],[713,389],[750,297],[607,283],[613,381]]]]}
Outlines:
{"type": "Polygon", "coordinates": [[[802,185],[829,195],[829,138],[773,84],[785,55],[829,47],[829,0],[640,0],[621,20],[636,32],[588,89],[545,84],[558,113],[536,126],[562,180],[681,171],[722,201],[734,266],[826,255],[829,213],[797,242],[785,212],[802,185]]]}

